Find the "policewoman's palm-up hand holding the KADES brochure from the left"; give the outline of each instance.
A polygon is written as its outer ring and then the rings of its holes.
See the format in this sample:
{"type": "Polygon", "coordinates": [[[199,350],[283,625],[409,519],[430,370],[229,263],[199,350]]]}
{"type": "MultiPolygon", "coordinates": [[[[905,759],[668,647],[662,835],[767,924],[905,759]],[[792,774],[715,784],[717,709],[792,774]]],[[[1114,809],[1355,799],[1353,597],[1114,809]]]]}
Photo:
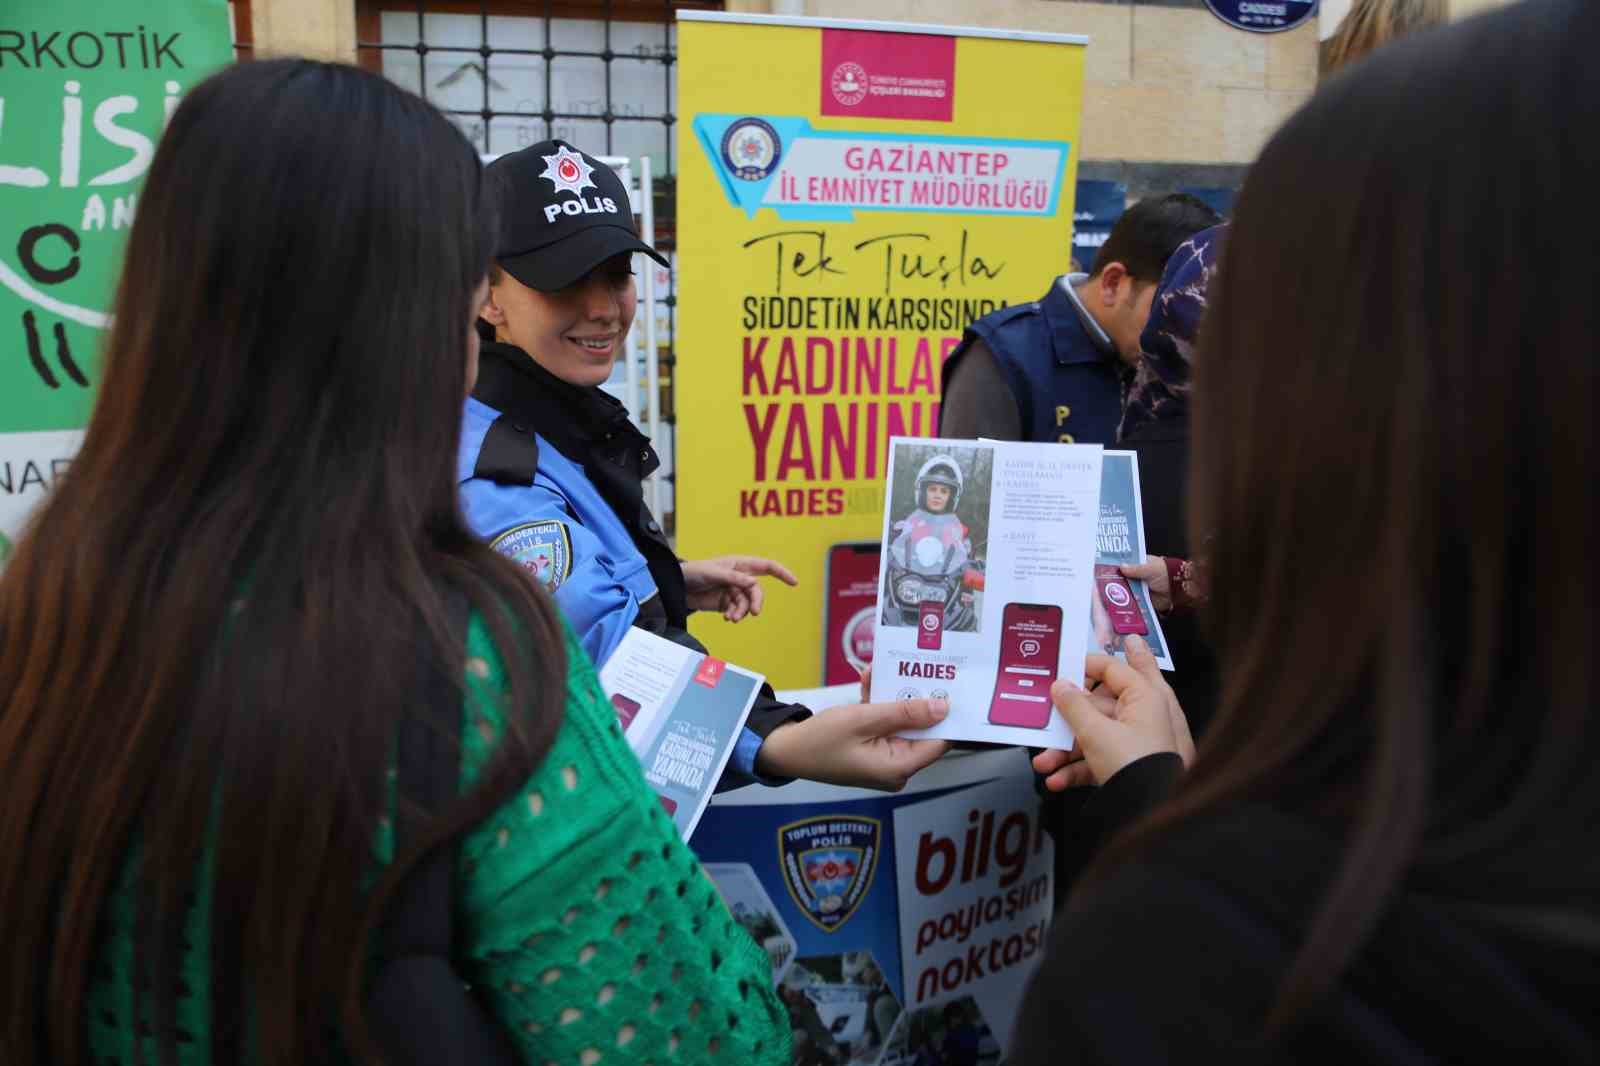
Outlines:
{"type": "Polygon", "coordinates": [[[755,755],[755,771],[899,792],[912,775],[950,751],[950,744],[906,739],[896,733],[938,725],[949,712],[950,704],[944,699],[832,707],[773,730],[755,755]]]}

